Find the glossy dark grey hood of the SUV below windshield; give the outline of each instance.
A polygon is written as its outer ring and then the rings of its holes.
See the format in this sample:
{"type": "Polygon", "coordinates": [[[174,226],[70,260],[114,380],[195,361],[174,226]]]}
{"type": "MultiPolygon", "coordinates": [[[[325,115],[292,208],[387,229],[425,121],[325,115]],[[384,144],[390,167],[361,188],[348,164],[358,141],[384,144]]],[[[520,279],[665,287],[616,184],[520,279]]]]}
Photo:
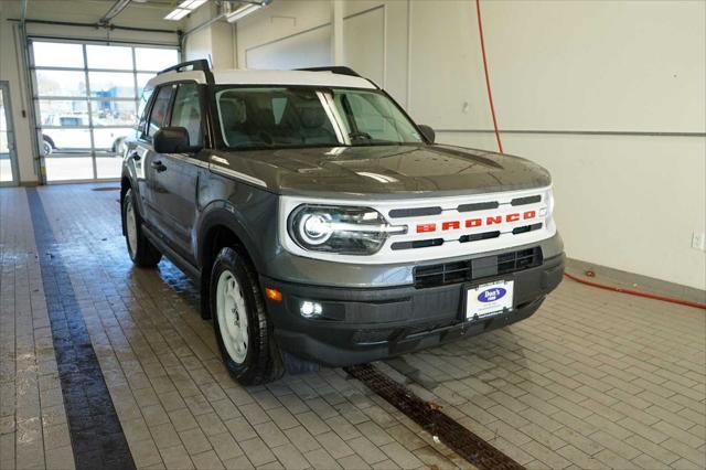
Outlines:
{"type": "Polygon", "coordinates": [[[431,196],[544,188],[549,173],[518,158],[440,145],[218,151],[226,168],[280,194],[431,196]]]}

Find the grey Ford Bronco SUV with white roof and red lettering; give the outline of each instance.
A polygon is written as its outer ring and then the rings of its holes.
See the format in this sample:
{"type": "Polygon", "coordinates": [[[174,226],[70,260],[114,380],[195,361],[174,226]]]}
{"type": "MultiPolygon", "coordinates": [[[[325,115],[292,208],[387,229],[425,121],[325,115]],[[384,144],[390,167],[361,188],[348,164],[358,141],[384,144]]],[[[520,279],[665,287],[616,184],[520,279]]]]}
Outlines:
{"type": "Polygon", "coordinates": [[[193,61],[152,78],[140,108],[128,253],[196,280],[243,384],[504,327],[561,280],[548,172],[434,143],[350,68],[193,61]]]}

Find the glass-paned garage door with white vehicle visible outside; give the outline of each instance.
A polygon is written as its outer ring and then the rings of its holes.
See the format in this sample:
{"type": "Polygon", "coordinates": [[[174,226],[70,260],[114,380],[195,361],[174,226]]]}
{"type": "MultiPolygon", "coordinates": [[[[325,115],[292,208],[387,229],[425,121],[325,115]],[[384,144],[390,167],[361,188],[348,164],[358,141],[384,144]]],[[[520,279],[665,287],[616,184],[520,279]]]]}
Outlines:
{"type": "Polygon", "coordinates": [[[31,40],[47,181],[116,179],[142,88],[179,62],[175,47],[31,40]]]}

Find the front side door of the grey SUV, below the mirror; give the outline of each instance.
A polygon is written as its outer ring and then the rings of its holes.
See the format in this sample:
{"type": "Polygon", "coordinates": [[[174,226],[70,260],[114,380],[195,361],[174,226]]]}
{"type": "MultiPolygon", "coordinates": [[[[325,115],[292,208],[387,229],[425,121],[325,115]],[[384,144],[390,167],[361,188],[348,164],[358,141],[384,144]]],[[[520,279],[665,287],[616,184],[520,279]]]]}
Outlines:
{"type": "Polygon", "coordinates": [[[192,231],[196,217],[200,172],[206,171],[199,151],[203,147],[204,119],[201,87],[195,83],[175,86],[170,127],[183,127],[193,152],[158,154],[161,169],[156,169],[156,203],[161,214],[161,231],[171,247],[183,258],[195,263],[192,231]]]}

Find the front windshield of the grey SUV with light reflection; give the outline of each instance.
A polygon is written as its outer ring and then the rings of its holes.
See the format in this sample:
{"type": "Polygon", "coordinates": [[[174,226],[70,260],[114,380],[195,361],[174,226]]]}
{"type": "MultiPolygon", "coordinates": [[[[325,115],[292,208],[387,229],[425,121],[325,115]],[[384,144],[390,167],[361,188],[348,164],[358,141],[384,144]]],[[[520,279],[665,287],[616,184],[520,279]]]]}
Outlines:
{"type": "Polygon", "coordinates": [[[222,88],[221,131],[234,149],[419,143],[383,93],[349,88],[222,88]]]}

